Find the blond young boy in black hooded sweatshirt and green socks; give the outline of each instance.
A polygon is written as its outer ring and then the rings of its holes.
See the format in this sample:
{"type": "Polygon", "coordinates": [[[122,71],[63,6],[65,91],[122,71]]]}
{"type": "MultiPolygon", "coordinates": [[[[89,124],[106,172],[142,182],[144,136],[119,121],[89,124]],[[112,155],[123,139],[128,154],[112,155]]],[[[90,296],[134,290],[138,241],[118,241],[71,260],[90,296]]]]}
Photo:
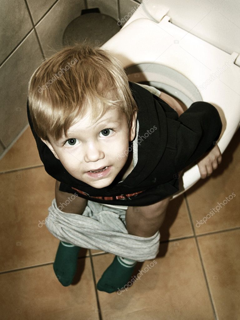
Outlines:
{"type": "MultiPolygon", "coordinates": [[[[58,208],[78,195],[62,212],[82,215],[88,204],[112,210],[123,204],[128,234],[149,238],[179,190],[178,173],[200,157],[202,178],[217,168],[222,129],[217,109],[200,101],[177,113],[176,101],[161,97],[171,106],[128,82],[119,60],[99,47],[64,48],[35,70],[27,115],[40,158],[56,179],[58,208]]],[[[79,250],[59,243],[53,268],[64,286],[72,283],[79,250]]],[[[116,255],[98,290],[123,287],[136,264],[131,258],[116,255]]]]}

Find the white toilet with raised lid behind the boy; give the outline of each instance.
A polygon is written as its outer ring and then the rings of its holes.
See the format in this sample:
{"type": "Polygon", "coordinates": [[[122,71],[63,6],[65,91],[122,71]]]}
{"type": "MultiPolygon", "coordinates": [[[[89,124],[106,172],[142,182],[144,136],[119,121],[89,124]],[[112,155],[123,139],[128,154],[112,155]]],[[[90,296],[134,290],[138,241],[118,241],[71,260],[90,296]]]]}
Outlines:
{"type": "MultiPolygon", "coordinates": [[[[187,108],[195,101],[216,107],[223,124],[218,142],[223,154],[240,126],[240,38],[234,23],[240,4],[217,8],[209,1],[191,3],[143,0],[102,48],[121,61],[129,81],[163,90],[187,108]],[[232,20],[229,14],[235,14],[232,20]],[[221,28],[216,19],[221,19],[221,28]]],[[[199,179],[197,164],[185,168],[172,199],[199,179]]]]}

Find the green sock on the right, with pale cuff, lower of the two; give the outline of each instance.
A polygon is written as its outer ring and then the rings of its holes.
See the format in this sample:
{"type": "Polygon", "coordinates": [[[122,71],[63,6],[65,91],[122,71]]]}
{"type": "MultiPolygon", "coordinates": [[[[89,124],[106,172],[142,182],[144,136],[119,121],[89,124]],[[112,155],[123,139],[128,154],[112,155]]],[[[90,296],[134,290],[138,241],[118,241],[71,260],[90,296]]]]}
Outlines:
{"type": "Polygon", "coordinates": [[[97,283],[97,289],[108,293],[120,290],[128,283],[137,261],[115,256],[97,283]]]}

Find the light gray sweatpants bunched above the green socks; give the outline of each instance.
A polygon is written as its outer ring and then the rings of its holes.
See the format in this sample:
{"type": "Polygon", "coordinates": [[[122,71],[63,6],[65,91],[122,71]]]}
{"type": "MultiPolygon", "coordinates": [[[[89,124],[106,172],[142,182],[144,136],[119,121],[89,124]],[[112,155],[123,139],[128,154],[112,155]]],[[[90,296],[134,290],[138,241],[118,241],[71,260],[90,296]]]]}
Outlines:
{"type": "Polygon", "coordinates": [[[129,235],[125,222],[127,208],[88,200],[79,215],[60,211],[53,199],[45,222],[55,237],[67,243],[137,261],[154,259],[159,252],[159,231],[148,238],[129,235]]]}

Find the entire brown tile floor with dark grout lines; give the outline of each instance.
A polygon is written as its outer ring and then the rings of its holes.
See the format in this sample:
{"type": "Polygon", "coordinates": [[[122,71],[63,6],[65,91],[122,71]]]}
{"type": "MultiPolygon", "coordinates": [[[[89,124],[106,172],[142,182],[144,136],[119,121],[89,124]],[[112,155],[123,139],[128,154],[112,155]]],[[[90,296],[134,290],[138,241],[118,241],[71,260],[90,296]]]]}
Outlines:
{"type": "Polygon", "coordinates": [[[53,272],[59,240],[44,219],[55,181],[28,127],[0,160],[1,319],[240,319],[239,132],[218,169],[170,202],[158,256],[137,263],[125,291],[109,294],[96,282],[112,254],[82,249],[68,287],[53,272]]]}

